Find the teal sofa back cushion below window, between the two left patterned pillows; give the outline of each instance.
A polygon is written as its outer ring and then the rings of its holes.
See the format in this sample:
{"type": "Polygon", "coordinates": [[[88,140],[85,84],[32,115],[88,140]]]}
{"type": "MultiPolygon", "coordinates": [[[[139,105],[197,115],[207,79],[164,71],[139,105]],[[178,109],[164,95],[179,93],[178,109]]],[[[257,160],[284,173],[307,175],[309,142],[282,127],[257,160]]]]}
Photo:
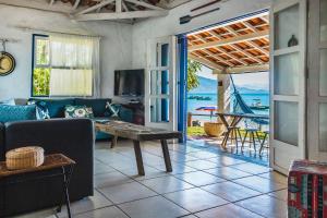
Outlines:
{"type": "Polygon", "coordinates": [[[45,105],[49,111],[50,118],[64,118],[64,107],[75,105],[75,99],[29,99],[36,105],[45,105]]]}

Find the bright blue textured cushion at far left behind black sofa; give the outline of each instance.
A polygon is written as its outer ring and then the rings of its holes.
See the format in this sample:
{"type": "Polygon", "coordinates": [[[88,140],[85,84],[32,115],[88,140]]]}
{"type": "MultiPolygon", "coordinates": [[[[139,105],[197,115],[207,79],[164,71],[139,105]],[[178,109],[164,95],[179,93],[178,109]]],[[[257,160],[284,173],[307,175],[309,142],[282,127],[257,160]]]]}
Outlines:
{"type": "Polygon", "coordinates": [[[0,105],[0,122],[36,120],[36,106],[0,105]]]}

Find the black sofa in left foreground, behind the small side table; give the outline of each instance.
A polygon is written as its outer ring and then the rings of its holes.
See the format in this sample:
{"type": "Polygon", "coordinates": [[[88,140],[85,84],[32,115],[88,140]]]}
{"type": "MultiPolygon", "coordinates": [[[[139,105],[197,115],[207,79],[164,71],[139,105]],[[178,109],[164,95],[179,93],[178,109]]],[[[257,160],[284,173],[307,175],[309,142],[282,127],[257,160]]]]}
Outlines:
{"type": "MultiPolygon", "coordinates": [[[[94,128],[88,119],[51,119],[5,123],[5,150],[44,147],[46,155],[61,153],[76,161],[70,184],[71,201],[94,194],[94,128]]],[[[7,185],[5,216],[51,207],[62,196],[62,178],[7,185]]]]}

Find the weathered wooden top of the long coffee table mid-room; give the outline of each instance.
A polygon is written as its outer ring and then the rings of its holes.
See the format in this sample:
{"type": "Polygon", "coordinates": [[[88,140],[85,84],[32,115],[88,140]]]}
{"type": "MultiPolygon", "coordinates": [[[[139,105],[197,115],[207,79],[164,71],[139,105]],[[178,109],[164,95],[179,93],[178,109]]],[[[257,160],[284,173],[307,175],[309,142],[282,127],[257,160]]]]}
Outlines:
{"type": "Polygon", "coordinates": [[[182,133],[157,128],[147,128],[123,121],[96,121],[97,131],[135,141],[181,138],[182,133]]]}

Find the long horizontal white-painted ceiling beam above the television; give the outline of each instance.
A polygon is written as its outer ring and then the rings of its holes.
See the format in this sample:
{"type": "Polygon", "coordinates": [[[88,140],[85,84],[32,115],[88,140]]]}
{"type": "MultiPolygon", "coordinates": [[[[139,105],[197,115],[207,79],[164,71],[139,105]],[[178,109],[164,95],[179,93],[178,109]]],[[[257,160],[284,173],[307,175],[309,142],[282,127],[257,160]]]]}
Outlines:
{"type": "Polygon", "coordinates": [[[168,11],[128,11],[119,13],[89,13],[81,14],[75,16],[77,21],[112,21],[112,20],[123,20],[123,19],[143,19],[143,17],[155,17],[155,16],[166,16],[168,11]]]}

